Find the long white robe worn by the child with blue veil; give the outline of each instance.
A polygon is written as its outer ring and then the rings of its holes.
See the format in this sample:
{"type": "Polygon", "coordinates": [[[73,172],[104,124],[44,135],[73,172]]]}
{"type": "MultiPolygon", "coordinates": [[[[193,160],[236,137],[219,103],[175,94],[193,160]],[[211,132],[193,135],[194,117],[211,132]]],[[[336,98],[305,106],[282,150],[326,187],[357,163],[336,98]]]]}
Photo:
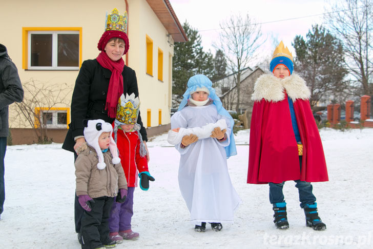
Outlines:
{"type": "Polygon", "coordinates": [[[216,106],[186,106],[171,117],[171,129],[201,127],[226,120],[227,139],[205,138],[180,148],[179,187],[191,213],[191,222],[233,222],[240,203],[228,173],[224,146],[230,143],[229,119],[218,114],[216,106]]]}

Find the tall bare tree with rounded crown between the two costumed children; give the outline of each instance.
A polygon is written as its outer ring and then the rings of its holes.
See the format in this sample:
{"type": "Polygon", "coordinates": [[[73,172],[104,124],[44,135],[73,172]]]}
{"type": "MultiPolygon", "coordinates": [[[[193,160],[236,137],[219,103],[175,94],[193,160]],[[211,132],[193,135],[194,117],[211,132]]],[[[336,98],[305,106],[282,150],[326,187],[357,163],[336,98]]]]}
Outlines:
{"type": "Polygon", "coordinates": [[[235,15],[220,23],[219,39],[213,45],[222,50],[232,72],[237,72],[237,105],[240,110],[240,82],[241,72],[248,66],[257,49],[265,42],[261,34],[261,26],[246,14],[235,15]]]}

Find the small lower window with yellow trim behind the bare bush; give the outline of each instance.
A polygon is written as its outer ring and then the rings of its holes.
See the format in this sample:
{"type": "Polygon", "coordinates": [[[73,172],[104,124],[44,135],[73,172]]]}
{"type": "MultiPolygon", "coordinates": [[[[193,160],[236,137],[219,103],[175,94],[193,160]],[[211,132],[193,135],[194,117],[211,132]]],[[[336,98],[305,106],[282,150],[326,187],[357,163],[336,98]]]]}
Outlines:
{"type": "Polygon", "coordinates": [[[68,128],[70,123],[70,108],[36,108],[35,127],[39,121],[46,124],[47,128],[68,128]]]}

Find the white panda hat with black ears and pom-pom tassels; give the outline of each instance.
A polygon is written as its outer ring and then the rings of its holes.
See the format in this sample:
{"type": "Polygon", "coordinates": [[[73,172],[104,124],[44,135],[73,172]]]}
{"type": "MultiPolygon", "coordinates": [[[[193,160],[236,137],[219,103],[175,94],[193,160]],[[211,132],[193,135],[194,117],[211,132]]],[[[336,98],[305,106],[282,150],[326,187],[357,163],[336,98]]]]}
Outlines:
{"type": "Polygon", "coordinates": [[[118,164],[120,159],[118,157],[118,149],[112,138],[113,127],[111,124],[103,121],[102,119],[96,120],[85,120],[83,121],[84,128],[84,138],[89,146],[93,147],[96,150],[98,156],[98,169],[104,169],[106,167],[105,162],[103,161],[103,155],[100,146],[98,145],[98,138],[102,134],[102,132],[109,132],[110,133],[110,144],[109,149],[111,155],[113,156],[112,163],[118,164]]]}

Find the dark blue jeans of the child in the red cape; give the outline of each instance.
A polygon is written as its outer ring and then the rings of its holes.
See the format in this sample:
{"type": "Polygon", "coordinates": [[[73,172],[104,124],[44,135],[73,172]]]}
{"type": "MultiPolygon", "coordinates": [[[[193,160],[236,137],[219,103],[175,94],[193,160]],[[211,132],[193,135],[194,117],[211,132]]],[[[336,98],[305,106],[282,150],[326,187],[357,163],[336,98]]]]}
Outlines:
{"type": "MultiPolygon", "coordinates": [[[[302,169],[302,157],[299,157],[300,170],[302,169]]],[[[312,194],[312,185],[309,182],[295,180],[295,186],[299,191],[300,207],[303,208],[306,204],[313,204],[316,201],[316,197],[312,194]]],[[[282,187],[285,182],[273,183],[270,182],[270,202],[271,204],[277,202],[284,202],[284,194],[282,193],[282,187]]]]}

